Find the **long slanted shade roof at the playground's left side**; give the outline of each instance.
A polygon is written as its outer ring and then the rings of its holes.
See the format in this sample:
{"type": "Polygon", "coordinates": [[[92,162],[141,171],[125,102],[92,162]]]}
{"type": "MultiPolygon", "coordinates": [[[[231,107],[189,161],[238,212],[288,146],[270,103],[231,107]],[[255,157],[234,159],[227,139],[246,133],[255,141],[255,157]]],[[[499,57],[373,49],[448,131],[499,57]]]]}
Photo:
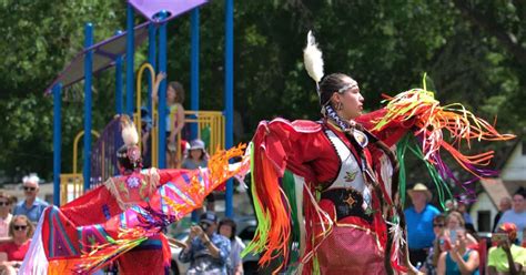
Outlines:
{"type": "MultiPolygon", "coordinates": [[[[134,28],[135,48],[141,45],[148,38],[148,26],[150,22],[144,22],[134,28]]],[[[65,67],[65,69],[53,80],[51,85],[45,89],[45,93],[50,93],[51,89],[57,83],[62,83],[62,89],[65,89],[78,81],[84,79],[84,54],[93,50],[93,73],[103,71],[114,65],[115,58],[125,55],[127,53],[127,32],[122,32],[104,41],[101,41],[74,57],[73,61],[65,67]]]]}

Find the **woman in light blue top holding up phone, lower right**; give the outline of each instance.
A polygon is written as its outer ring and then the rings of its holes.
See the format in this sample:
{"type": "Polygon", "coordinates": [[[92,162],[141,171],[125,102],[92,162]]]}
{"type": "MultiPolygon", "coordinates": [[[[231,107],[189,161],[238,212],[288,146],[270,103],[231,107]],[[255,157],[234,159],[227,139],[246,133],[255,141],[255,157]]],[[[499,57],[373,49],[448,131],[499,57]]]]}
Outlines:
{"type": "Polygon", "coordinates": [[[438,258],[437,274],[438,275],[456,275],[456,274],[477,274],[479,256],[476,249],[467,247],[466,230],[457,227],[449,231],[446,242],[451,246],[448,251],[441,254],[438,258]]]}

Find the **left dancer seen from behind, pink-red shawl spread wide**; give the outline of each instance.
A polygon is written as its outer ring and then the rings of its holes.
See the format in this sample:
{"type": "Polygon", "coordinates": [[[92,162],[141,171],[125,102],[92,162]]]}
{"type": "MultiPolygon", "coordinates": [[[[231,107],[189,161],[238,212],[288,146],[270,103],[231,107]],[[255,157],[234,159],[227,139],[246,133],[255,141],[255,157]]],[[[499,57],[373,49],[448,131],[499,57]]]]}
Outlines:
{"type": "Polygon", "coordinates": [[[45,210],[23,274],[89,274],[112,261],[119,274],[168,274],[171,253],[163,228],[200,207],[226,179],[246,172],[247,162],[229,165],[241,146],[212,156],[208,170],[141,170],[136,130],[125,115],[121,124],[121,175],[45,210]]]}

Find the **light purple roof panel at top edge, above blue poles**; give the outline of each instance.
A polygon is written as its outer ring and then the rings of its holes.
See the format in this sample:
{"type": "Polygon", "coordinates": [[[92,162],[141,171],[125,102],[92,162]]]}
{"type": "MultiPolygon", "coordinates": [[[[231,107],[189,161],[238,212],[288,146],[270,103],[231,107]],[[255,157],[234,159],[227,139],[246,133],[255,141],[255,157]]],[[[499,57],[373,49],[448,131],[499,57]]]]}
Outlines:
{"type": "Polygon", "coordinates": [[[206,3],[208,0],[129,0],[128,3],[133,6],[148,20],[159,23],[170,21],[175,17],[183,14],[199,6],[206,3]],[[168,18],[160,21],[159,14],[162,10],[168,12],[168,18]]]}

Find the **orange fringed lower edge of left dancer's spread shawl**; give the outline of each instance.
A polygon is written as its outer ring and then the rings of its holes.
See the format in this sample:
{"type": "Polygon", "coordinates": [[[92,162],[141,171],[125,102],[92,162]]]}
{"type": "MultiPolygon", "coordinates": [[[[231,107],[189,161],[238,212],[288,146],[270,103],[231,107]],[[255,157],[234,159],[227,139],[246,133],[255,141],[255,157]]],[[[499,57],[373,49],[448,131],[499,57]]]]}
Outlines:
{"type": "MultiPolygon", "coordinates": [[[[105,236],[105,243],[91,245],[90,251],[83,251],[77,273],[91,273],[100,269],[111,261],[118,258],[125,252],[139,246],[149,236],[159,234],[163,227],[168,226],[196,207],[200,207],[205,196],[220,186],[223,182],[236,174],[246,174],[249,161],[245,160],[235,167],[229,164],[232,157],[243,155],[245,145],[232,147],[229,151],[216,152],[209,161],[208,170],[196,170],[190,180],[190,184],[168,183],[160,187],[161,200],[168,208],[153,210],[132,207],[124,213],[121,218],[125,220],[127,213],[138,212],[139,226],[131,228],[119,228],[119,237],[113,240],[105,236]]],[[[155,201],[155,196],[152,197],[155,201]]]]}

